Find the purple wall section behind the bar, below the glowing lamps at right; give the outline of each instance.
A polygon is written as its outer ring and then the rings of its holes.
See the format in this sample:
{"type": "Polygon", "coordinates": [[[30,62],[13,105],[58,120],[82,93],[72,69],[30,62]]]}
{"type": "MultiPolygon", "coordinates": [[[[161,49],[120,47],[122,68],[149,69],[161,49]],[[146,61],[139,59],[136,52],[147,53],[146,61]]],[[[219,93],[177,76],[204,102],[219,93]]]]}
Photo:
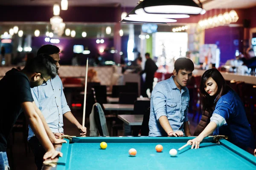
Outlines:
{"type": "Polygon", "coordinates": [[[221,63],[236,57],[242,51],[243,27],[219,26],[205,30],[205,44],[217,44],[221,50],[221,63]],[[238,42],[238,45],[235,43],[238,42]]]}

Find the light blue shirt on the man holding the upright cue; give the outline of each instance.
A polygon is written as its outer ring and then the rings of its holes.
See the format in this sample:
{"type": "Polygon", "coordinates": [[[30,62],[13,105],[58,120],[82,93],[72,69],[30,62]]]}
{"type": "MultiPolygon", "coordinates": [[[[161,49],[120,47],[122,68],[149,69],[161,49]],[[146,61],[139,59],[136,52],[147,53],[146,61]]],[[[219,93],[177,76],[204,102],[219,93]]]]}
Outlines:
{"type": "MultiPolygon", "coordinates": [[[[63,115],[70,112],[70,108],[63,92],[61,78],[57,75],[48,80],[46,86],[32,88],[31,93],[52,132],[63,133],[63,115]]],[[[34,132],[29,125],[28,140],[32,136],[34,136],[34,132]]]]}

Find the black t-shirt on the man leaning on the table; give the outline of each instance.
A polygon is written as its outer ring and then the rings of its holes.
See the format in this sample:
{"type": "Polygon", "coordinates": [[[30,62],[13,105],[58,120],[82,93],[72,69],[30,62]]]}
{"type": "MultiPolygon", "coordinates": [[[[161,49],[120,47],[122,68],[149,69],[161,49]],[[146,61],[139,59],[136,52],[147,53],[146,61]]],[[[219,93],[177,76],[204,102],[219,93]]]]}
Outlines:
{"type": "Polygon", "coordinates": [[[6,72],[0,80],[0,152],[6,152],[7,138],[26,101],[34,101],[29,78],[17,69],[6,72]]]}

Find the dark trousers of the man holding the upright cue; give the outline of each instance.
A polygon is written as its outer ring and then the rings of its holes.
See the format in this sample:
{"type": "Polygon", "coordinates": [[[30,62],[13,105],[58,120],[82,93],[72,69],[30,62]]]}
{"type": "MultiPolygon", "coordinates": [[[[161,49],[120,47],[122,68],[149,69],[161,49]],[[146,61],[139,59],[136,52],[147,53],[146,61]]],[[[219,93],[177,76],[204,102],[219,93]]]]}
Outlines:
{"type": "Polygon", "coordinates": [[[43,146],[38,141],[38,138],[36,138],[35,136],[29,139],[29,145],[35,156],[35,164],[38,170],[41,170],[43,166],[43,157],[46,152],[43,146]]]}

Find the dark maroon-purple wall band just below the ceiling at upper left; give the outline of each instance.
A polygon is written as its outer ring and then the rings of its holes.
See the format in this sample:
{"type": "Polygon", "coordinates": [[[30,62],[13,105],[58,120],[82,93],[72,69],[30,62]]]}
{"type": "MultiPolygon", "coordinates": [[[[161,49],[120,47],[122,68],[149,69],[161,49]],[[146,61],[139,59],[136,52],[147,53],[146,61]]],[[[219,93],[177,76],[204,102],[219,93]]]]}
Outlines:
{"type": "MultiPolygon", "coordinates": [[[[121,7],[69,6],[60,12],[63,22],[119,22],[121,7]]],[[[49,22],[52,6],[0,6],[0,21],[49,22]]]]}

